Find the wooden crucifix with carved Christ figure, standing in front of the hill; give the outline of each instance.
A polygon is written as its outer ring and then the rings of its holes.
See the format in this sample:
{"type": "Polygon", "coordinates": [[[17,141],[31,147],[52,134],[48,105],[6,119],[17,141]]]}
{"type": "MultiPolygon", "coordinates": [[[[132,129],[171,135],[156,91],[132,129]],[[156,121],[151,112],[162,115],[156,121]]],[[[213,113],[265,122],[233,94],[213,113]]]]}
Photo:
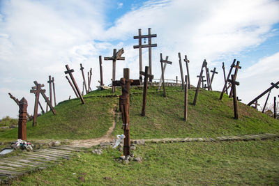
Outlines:
{"type": "Polygon", "coordinates": [[[130,79],[130,71],[124,68],[124,77],[120,81],[113,81],[112,86],[121,86],[122,95],[119,96],[119,109],[122,114],[122,129],[124,130],[123,155],[130,155],[130,86],[140,85],[140,79],[130,79]]]}

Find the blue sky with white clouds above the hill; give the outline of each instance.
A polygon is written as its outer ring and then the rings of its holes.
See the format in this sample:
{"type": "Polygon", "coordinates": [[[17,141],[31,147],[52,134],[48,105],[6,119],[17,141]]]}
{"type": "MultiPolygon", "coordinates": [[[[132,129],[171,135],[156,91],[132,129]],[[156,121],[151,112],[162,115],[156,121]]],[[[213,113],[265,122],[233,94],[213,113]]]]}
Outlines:
{"type": "MultiPolygon", "coordinates": [[[[74,69],[82,89],[82,73],[93,69],[91,88],[100,80],[98,56],[112,56],[123,47],[126,60],[116,61],[116,79],[123,68],[130,68],[130,78],[139,78],[139,52],[133,49],[133,36],[157,37],[152,42],[152,73],[160,78],[160,53],[169,56],[165,79],[180,79],[179,58],[190,60],[190,84],[197,86],[197,75],[206,59],[210,70],[217,68],[212,88],[224,85],[232,61],[240,61],[236,93],[248,103],[279,81],[279,1],[273,0],[0,0],[0,118],[17,118],[18,107],[10,99],[26,98],[33,114],[35,97],[30,93],[33,81],[45,84],[54,77],[56,102],[75,98],[65,78],[65,65],[74,69]]],[[[143,67],[149,65],[148,49],[143,49],[143,67]]],[[[184,75],[186,64],[183,62],[184,75]]],[[[103,61],[105,85],[111,84],[112,61],[103,61]]],[[[279,94],[273,88],[269,102],[279,94]]],[[[265,95],[259,100],[261,106],[265,95]]],[[[279,98],[277,98],[279,100],[279,98]]],[[[45,109],[45,101],[40,96],[45,109]]],[[[39,109],[40,112],[40,109],[39,109]]]]}

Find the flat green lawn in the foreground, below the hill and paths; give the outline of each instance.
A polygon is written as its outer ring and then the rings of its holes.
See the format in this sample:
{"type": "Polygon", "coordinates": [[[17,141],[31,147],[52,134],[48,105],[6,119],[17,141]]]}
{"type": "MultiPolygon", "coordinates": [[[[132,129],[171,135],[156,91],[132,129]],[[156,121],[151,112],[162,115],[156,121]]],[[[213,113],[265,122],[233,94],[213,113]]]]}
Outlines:
{"type": "Polygon", "coordinates": [[[143,162],[126,165],[109,148],[103,155],[80,153],[13,185],[279,185],[278,153],[278,139],[145,144],[135,150],[143,162]]]}

